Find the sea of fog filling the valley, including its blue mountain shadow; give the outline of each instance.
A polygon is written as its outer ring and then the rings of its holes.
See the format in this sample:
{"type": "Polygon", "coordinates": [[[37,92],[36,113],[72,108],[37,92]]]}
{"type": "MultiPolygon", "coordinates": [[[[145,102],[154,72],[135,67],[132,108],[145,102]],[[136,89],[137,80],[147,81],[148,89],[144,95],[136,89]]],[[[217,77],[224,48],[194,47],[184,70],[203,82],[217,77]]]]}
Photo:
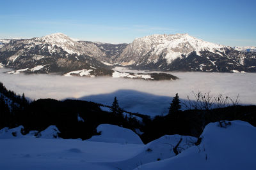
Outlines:
{"type": "MultiPolygon", "coordinates": [[[[119,70],[124,70],[118,68],[119,70]]],[[[194,92],[223,94],[240,104],[256,104],[256,73],[181,73],[175,81],[146,81],[125,78],[66,77],[54,74],[5,74],[0,69],[0,81],[7,89],[24,93],[29,99],[83,99],[111,105],[116,96],[127,111],[151,116],[165,115],[172,97],[179,93],[181,100],[193,99],[194,92]]],[[[138,72],[138,71],[137,71],[138,72]]]]}

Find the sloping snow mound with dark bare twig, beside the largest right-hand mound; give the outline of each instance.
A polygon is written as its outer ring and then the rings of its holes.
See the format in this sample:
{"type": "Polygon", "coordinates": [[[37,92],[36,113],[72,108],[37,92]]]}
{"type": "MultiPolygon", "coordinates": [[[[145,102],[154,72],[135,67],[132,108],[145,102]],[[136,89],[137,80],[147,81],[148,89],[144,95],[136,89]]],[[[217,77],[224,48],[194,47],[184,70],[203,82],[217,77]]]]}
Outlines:
{"type": "Polygon", "coordinates": [[[188,149],[197,140],[195,137],[191,136],[180,136],[178,134],[165,135],[145,145],[143,150],[141,150],[135,157],[120,162],[114,162],[111,166],[128,170],[149,162],[156,162],[157,160],[175,157],[173,148],[179,143],[181,138],[182,141],[177,149],[179,152],[188,149]]]}

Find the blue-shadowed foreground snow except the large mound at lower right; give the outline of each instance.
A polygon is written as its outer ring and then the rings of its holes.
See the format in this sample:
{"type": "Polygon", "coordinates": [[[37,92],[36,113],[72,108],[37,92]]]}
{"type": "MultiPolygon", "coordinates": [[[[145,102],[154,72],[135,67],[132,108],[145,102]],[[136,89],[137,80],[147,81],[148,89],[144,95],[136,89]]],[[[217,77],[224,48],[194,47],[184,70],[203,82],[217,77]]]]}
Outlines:
{"type": "Polygon", "coordinates": [[[22,129],[22,126],[1,129],[0,169],[134,169],[157,159],[173,157],[172,146],[180,138],[184,138],[180,144],[184,148],[189,147],[188,141],[195,139],[163,136],[144,145],[131,130],[108,124],[99,125],[97,131],[102,134],[86,141],[54,139],[58,131],[55,126],[40,133],[31,131],[26,136],[20,133],[22,129]]]}

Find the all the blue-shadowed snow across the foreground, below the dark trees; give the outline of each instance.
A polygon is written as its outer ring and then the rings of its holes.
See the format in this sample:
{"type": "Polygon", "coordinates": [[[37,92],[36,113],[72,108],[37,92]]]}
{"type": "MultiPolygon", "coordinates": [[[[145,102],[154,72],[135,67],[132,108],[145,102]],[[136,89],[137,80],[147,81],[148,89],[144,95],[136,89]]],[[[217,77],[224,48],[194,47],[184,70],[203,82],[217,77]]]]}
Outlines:
{"type": "Polygon", "coordinates": [[[23,136],[22,126],[4,128],[0,169],[256,169],[256,128],[241,121],[226,123],[225,127],[218,122],[207,125],[198,146],[196,138],[180,135],[143,145],[129,129],[107,124],[97,128],[102,131],[101,136],[93,136],[98,141],[54,139],[51,134],[58,131],[54,126],[37,138],[35,131],[23,136]],[[109,137],[116,137],[114,143],[109,143],[109,137]],[[120,142],[124,138],[130,141],[120,142]],[[173,148],[180,139],[181,153],[176,156],[173,148]]]}

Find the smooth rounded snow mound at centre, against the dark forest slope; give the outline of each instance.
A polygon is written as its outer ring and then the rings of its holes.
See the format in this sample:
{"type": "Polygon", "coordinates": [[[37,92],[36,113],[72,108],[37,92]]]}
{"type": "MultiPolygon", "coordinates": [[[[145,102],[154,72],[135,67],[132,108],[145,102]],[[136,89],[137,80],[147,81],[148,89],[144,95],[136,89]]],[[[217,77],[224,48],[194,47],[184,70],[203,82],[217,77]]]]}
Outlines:
{"type": "Polygon", "coordinates": [[[106,143],[129,143],[143,144],[140,137],[130,129],[119,127],[117,125],[102,124],[97,127],[99,136],[92,136],[88,141],[106,142],[106,143]]]}

